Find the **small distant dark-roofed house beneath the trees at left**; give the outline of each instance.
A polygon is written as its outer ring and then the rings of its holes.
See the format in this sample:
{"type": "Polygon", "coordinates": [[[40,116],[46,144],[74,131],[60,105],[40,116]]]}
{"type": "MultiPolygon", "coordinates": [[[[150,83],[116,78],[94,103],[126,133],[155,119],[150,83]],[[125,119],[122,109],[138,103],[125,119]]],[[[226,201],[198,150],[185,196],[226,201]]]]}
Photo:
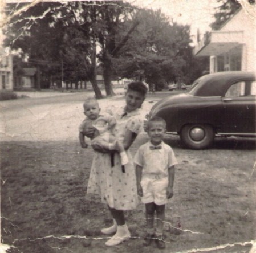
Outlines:
{"type": "Polygon", "coordinates": [[[36,68],[22,68],[14,75],[15,88],[35,88],[36,68]]]}

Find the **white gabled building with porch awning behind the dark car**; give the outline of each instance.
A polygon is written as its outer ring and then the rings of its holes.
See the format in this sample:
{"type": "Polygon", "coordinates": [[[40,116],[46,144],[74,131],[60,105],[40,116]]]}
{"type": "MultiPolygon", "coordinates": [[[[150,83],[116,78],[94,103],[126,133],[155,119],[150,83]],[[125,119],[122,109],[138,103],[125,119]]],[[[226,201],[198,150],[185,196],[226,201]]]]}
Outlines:
{"type": "Polygon", "coordinates": [[[206,32],[194,48],[198,57],[209,56],[210,73],[220,71],[255,71],[256,23],[241,8],[220,30],[206,32]]]}

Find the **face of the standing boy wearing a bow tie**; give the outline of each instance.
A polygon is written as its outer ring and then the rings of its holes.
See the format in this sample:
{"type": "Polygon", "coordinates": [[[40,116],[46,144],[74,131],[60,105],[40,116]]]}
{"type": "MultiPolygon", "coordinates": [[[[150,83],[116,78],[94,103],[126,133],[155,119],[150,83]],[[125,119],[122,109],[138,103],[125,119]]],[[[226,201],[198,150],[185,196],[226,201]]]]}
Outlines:
{"type": "Polygon", "coordinates": [[[158,145],[164,138],[165,126],[162,122],[149,122],[148,123],[148,136],[152,144],[158,145]]]}

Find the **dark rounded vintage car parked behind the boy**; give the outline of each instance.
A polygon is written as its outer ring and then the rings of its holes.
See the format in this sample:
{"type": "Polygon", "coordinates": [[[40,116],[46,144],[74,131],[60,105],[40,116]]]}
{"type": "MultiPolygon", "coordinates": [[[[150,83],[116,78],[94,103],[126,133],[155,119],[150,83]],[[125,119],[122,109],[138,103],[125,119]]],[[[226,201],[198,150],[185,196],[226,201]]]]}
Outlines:
{"type": "Polygon", "coordinates": [[[256,83],[253,72],[217,72],[200,77],[188,92],[156,103],[148,117],[166,121],[191,149],[208,148],[215,136],[255,137],[256,83]]]}

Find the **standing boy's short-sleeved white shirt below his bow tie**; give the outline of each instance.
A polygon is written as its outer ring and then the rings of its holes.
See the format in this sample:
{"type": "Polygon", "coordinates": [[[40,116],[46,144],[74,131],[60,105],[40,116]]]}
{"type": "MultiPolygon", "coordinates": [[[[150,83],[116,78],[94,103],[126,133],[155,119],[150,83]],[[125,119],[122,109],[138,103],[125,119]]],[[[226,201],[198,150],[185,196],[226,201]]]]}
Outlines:
{"type": "Polygon", "coordinates": [[[163,141],[159,145],[161,145],[161,149],[152,150],[150,146],[153,144],[148,141],[137,150],[134,162],[143,167],[143,176],[147,174],[168,176],[168,168],[178,164],[172,148],[163,141]]]}

